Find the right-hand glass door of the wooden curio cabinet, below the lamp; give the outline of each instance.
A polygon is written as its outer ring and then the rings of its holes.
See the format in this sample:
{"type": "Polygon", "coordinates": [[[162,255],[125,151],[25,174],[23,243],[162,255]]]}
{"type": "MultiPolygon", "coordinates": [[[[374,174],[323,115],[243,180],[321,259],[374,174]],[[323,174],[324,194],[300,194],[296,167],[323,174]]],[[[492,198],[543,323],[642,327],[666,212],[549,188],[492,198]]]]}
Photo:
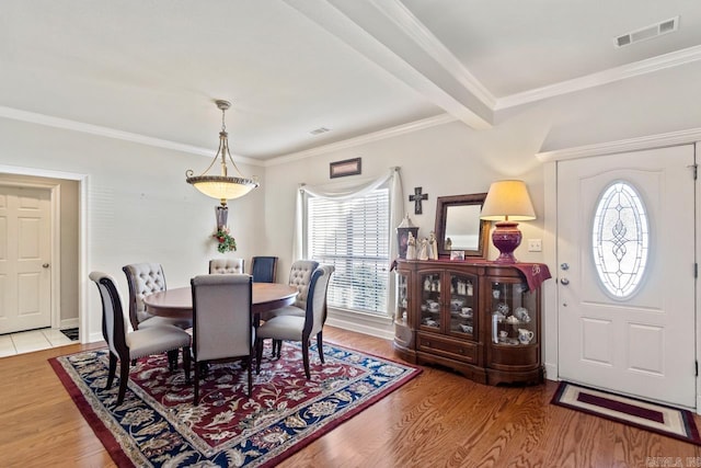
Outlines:
{"type": "Polygon", "coordinates": [[[492,342],[505,346],[537,344],[536,293],[526,283],[492,282],[492,342]]]}

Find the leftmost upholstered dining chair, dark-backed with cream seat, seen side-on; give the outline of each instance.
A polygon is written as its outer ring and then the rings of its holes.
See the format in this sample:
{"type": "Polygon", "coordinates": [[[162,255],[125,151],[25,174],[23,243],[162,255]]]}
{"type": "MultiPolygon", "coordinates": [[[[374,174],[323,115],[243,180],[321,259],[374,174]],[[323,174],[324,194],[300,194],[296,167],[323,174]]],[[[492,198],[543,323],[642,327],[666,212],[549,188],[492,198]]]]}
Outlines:
{"type": "Polygon", "coordinates": [[[189,383],[189,343],[191,336],[184,330],[173,326],[153,326],[127,332],[122,309],[122,299],[115,279],[106,273],[92,272],[90,279],[95,282],[102,298],[102,335],[110,349],[110,373],[105,389],[112,387],[117,361],[119,362],[119,392],[117,406],[122,404],[129,380],[129,365],[139,357],[183,349],[185,379],[189,383]]]}

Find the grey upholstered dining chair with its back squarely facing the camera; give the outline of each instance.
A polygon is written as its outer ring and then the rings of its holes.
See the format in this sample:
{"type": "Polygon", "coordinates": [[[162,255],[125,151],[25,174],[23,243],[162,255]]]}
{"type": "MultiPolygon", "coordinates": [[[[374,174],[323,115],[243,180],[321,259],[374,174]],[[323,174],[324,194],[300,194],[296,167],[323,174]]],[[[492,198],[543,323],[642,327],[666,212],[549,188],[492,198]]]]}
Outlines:
{"type": "Polygon", "coordinates": [[[241,358],[248,368],[248,395],[251,397],[255,336],[251,313],[251,275],[199,275],[191,279],[191,285],[195,404],[199,404],[202,365],[241,358]]]}

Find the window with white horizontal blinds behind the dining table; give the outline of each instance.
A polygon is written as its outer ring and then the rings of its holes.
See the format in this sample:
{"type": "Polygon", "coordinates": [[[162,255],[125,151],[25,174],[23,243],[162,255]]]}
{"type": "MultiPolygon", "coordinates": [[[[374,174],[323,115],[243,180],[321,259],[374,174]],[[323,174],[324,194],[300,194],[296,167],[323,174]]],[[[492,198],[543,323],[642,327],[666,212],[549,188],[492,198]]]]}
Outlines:
{"type": "Polygon", "coordinates": [[[389,189],[347,199],[310,196],[307,232],[308,256],[336,267],[329,306],[387,315],[389,189]]]}

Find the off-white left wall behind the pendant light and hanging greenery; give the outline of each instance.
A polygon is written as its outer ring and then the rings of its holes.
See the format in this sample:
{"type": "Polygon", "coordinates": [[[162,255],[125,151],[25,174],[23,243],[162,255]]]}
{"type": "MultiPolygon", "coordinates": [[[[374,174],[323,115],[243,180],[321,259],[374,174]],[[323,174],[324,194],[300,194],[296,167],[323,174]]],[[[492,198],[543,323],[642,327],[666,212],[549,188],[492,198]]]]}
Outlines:
{"type": "MultiPolygon", "coordinates": [[[[212,157],[215,152],[216,148],[212,157]]],[[[87,216],[87,258],[80,287],[87,294],[81,312],[88,313],[89,330],[87,334],[83,330],[83,338],[102,339],[101,306],[97,288],[88,279],[90,271],[113,275],[124,301],[125,264],[161,263],[169,287],[176,287],[207,273],[210,258],[222,256],[210,237],[218,202],[185,182],[185,170],[199,173],[209,161],[202,156],[0,119],[0,165],[16,167],[23,173],[41,169],[87,175],[87,206],[82,209],[87,216]]],[[[240,169],[246,175],[261,175],[265,184],[263,168],[241,164],[240,169]]],[[[229,226],[239,251],[228,255],[246,259],[246,265],[260,250],[258,214],[264,199],[263,191],[255,191],[229,202],[229,226]]]]}

